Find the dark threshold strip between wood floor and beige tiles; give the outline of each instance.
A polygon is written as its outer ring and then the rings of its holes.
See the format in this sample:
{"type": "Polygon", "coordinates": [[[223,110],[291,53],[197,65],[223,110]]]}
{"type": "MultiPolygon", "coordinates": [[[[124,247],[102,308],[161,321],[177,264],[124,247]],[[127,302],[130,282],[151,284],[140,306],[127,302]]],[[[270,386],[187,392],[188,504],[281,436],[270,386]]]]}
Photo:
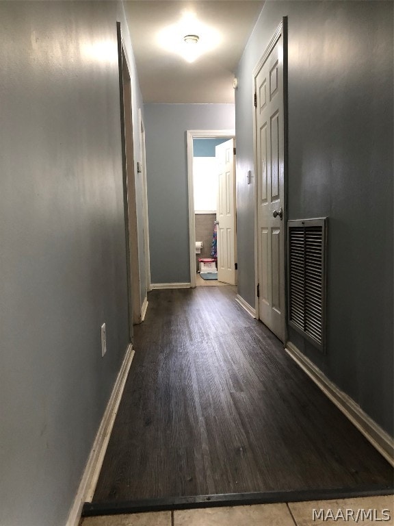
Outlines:
{"type": "Polygon", "coordinates": [[[330,488],[326,490],[285,490],[194,495],[189,497],[161,497],[135,501],[111,501],[107,503],[86,502],[83,505],[82,516],[132,514],[282,502],[325,501],[332,499],[350,499],[354,497],[376,497],[378,495],[391,495],[393,493],[394,486],[374,485],[360,486],[358,488],[330,488]]]}

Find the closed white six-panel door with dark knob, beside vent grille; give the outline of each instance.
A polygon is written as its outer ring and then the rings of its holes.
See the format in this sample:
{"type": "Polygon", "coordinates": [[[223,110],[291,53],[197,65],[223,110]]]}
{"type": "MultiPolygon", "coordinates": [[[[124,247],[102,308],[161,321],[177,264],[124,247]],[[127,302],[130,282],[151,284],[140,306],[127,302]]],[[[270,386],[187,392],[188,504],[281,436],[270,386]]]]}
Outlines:
{"type": "Polygon", "coordinates": [[[283,36],[255,77],[259,318],[285,340],[283,36]]]}

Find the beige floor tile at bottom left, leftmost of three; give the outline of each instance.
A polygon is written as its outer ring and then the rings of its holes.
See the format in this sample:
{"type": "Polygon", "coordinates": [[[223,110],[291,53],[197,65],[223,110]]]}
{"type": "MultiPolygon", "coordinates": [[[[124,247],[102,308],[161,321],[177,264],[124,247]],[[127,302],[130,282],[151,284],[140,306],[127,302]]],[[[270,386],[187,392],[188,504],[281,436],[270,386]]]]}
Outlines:
{"type": "Polygon", "coordinates": [[[171,526],[171,512],[86,517],[80,526],[171,526]]]}

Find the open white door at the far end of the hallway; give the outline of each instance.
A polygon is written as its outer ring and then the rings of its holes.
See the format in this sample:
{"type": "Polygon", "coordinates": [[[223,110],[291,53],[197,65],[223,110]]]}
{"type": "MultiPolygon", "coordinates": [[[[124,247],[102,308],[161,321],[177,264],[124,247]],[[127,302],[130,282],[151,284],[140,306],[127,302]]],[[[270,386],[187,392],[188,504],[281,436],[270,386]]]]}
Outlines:
{"type": "Polygon", "coordinates": [[[236,283],[236,226],[235,226],[235,155],[234,139],[215,147],[218,164],[218,281],[236,283]]]}

